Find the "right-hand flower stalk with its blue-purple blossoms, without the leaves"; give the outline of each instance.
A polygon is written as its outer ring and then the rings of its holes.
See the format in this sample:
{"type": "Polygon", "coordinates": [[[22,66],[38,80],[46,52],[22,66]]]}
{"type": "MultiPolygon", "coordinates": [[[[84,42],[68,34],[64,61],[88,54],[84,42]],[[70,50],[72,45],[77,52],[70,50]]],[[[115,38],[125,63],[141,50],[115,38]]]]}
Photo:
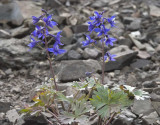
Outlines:
{"type": "Polygon", "coordinates": [[[101,42],[102,48],[100,49],[102,52],[102,84],[104,84],[104,69],[105,69],[105,62],[108,61],[115,61],[114,57],[116,55],[112,55],[109,52],[105,52],[104,46],[113,46],[113,42],[115,42],[117,39],[110,37],[109,32],[111,28],[115,28],[115,16],[112,16],[111,18],[105,18],[103,17],[103,11],[102,13],[98,13],[97,11],[94,12],[94,16],[90,17],[91,22],[88,22],[88,31],[90,32],[88,35],[86,35],[86,41],[83,41],[83,46],[88,46],[92,44],[95,46],[97,43],[96,40],[91,39],[90,35],[93,32],[97,33],[97,37],[99,41],[101,42]],[[109,27],[106,27],[106,24],[109,24],[109,27]]]}

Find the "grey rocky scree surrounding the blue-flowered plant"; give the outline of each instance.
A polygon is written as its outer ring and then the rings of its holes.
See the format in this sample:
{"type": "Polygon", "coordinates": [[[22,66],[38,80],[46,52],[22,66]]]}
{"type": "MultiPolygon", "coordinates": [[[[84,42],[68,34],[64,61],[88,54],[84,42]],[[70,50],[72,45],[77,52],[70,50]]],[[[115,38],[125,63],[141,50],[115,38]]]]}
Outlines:
{"type": "MultiPolygon", "coordinates": [[[[0,125],[12,125],[19,119],[19,109],[31,102],[34,88],[49,77],[45,53],[39,48],[28,51],[27,47],[34,29],[31,16],[39,16],[41,8],[54,13],[53,19],[59,24],[51,32],[63,31],[62,43],[67,53],[53,62],[60,89],[85,77],[85,72],[101,77],[101,53],[81,46],[88,28],[86,22],[95,10],[106,10],[106,17],[117,15],[113,32],[118,40],[114,47],[106,48],[117,57],[115,62],[106,63],[105,83],[142,88],[151,99],[135,101],[113,125],[160,125],[159,0],[1,0],[0,125]]],[[[33,122],[45,124],[43,120],[33,122]]]]}

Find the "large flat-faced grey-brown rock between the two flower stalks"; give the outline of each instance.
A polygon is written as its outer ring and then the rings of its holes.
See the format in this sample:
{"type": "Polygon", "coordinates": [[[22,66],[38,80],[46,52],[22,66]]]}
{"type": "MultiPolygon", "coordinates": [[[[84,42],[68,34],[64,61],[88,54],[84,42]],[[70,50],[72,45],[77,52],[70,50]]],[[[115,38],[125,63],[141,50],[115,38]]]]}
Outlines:
{"type": "Polygon", "coordinates": [[[96,60],[70,60],[62,61],[57,70],[58,79],[62,82],[74,81],[85,77],[85,72],[98,72],[101,66],[96,60]]]}

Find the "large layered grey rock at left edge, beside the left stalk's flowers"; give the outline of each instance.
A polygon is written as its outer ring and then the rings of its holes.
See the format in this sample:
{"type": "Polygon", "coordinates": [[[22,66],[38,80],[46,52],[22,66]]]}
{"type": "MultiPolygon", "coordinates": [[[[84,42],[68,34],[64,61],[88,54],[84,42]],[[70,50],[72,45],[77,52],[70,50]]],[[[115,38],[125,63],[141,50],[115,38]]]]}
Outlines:
{"type": "Polygon", "coordinates": [[[0,39],[0,66],[7,68],[21,68],[34,63],[35,60],[44,60],[37,48],[29,51],[29,36],[23,39],[0,39]]]}

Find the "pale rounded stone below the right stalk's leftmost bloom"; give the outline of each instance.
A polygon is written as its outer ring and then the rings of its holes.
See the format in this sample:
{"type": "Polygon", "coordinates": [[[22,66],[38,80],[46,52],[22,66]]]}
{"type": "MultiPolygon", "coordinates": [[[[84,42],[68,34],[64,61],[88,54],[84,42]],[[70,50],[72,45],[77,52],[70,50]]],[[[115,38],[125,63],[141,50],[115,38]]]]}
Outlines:
{"type": "Polygon", "coordinates": [[[99,54],[100,52],[96,48],[93,48],[93,49],[85,48],[83,52],[83,57],[85,59],[88,59],[88,58],[95,59],[99,54]]]}

